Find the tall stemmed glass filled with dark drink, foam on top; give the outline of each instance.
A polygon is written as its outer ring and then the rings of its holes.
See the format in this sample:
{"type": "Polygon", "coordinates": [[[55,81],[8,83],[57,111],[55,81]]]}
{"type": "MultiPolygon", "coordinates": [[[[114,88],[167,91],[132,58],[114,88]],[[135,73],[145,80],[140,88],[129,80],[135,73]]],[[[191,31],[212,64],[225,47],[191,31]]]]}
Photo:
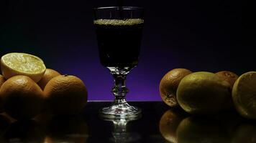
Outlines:
{"type": "Polygon", "coordinates": [[[137,66],[144,24],[143,9],[131,6],[99,7],[94,9],[93,24],[99,46],[101,64],[114,77],[114,102],[101,109],[101,117],[123,119],[138,117],[141,110],[125,100],[128,92],[125,79],[137,66]]]}

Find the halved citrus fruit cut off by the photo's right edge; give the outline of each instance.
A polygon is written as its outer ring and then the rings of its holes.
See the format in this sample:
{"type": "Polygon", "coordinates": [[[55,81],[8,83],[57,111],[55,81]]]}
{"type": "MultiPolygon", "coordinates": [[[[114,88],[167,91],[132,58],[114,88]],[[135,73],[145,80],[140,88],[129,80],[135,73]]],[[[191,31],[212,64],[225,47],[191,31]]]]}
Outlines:
{"type": "Polygon", "coordinates": [[[242,74],[234,82],[232,99],[242,117],[256,119],[256,71],[242,74]]]}

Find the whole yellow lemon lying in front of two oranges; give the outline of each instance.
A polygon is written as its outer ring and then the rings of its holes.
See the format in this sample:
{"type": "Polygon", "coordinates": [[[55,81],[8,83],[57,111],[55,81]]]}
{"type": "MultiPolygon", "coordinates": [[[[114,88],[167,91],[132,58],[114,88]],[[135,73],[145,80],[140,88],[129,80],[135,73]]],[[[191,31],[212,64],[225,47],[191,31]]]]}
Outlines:
{"type": "Polygon", "coordinates": [[[180,107],[191,114],[215,114],[232,100],[229,83],[211,72],[199,71],[184,77],[177,90],[180,107]]]}

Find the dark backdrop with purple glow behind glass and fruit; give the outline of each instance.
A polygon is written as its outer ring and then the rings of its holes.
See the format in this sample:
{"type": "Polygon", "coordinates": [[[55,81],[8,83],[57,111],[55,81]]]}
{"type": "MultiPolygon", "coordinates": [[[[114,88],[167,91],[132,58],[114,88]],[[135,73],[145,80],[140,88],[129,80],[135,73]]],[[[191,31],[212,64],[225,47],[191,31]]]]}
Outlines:
{"type": "MultiPolygon", "coordinates": [[[[124,1],[146,9],[140,63],[127,77],[127,99],[160,99],[160,79],[178,67],[255,71],[252,3],[124,1]]],[[[112,77],[99,62],[92,24],[93,7],[113,5],[116,1],[1,0],[0,56],[14,51],[35,54],[48,68],[80,77],[89,99],[113,99],[112,77]]]]}

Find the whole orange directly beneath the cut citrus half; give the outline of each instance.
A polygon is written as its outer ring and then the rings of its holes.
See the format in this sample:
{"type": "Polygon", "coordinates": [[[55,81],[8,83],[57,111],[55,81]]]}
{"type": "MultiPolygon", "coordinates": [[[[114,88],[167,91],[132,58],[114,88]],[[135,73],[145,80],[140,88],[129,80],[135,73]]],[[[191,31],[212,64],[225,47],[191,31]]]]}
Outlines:
{"type": "Polygon", "coordinates": [[[0,89],[4,111],[14,119],[31,119],[40,113],[43,104],[42,89],[27,76],[14,76],[0,89]]]}

